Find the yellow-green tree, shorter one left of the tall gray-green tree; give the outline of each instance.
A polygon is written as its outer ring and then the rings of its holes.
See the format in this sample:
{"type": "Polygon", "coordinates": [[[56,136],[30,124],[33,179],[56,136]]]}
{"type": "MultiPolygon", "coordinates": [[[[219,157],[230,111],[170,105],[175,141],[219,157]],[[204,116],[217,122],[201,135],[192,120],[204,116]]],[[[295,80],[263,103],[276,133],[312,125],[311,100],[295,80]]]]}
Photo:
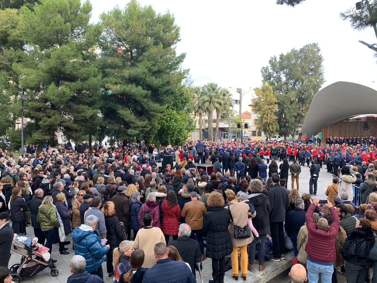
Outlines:
{"type": "Polygon", "coordinates": [[[256,128],[265,133],[266,137],[271,137],[278,130],[277,98],[270,85],[262,85],[261,88],[254,89],[255,97],[252,100],[253,112],[258,115],[256,128]]]}

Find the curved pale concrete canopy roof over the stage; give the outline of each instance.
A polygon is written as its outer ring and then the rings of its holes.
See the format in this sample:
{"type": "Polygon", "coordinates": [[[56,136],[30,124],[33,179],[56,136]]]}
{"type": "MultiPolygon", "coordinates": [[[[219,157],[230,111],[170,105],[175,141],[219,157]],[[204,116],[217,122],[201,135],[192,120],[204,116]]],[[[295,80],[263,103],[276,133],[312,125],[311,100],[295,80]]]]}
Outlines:
{"type": "Polygon", "coordinates": [[[336,82],[313,97],[302,134],[316,135],[325,126],[362,114],[377,113],[377,91],[358,83],[336,82]]]}

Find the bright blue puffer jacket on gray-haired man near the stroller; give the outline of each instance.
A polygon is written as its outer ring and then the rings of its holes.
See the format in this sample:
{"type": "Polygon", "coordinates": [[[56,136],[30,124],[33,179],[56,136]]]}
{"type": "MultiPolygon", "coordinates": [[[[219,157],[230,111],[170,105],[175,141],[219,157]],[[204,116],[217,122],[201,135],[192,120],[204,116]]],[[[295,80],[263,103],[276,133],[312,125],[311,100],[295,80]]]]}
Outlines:
{"type": "Polygon", "coordinates": [[[72,240],[75,245],[75,254],[85,258],[87,272],[95,271],[107,260],[106,254],[109,248],[101,245],[100,237],[90,226],[81,224],[72,232],[72,240]]]}

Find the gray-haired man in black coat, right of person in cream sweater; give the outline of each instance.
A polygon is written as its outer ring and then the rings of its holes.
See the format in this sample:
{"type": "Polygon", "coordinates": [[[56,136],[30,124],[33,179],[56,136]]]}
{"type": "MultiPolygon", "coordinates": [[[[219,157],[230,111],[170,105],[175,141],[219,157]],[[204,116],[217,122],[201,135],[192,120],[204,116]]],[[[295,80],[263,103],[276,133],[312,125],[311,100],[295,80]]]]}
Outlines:
{"type": "Polygon", "coordinates": [[[202,260],[202,253],[197,241],[190,239],[191,228],[186,223],[179,225],[178,239],[169,243],[169,246],[175,247],[181,255],[184,262],[187,262],[192,274],[195,277],[196,263],[200,263],[202,260]]]}

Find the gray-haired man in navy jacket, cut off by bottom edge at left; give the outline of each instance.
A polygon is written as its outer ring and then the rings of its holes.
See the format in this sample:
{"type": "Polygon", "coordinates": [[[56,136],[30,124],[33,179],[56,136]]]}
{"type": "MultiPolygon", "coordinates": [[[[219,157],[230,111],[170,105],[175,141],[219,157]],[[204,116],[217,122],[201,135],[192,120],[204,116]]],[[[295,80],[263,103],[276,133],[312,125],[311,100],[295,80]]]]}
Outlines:
{"type": "Polygon", "coordinates": [[[69,271],[72,275],[68,277],[67,283],[103,283],[98,275],[91,275],[85,270],[86,261],[81,255],[74,255],[69,261],[69,271]]]}

